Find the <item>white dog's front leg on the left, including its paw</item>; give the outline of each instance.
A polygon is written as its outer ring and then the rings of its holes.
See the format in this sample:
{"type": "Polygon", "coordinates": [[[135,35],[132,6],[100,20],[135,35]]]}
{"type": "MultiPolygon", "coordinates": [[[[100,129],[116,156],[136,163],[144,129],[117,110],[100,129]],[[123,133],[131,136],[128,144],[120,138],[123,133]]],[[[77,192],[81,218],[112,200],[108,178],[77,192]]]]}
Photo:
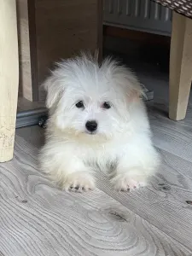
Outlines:
{"type": "Polygon", "coordinates": [[[61,189],[87,191],[95,188],[90,167],[73,155],[49,154],[43,150],[40,157],[41,170],[61,189]]]}

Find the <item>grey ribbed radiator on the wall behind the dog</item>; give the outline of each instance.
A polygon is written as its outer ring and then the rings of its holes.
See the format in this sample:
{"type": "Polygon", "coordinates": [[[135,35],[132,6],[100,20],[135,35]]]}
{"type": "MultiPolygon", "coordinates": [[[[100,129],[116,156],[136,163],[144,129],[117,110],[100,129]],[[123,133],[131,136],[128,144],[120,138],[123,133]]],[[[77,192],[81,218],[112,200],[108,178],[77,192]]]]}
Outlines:
{"type": "Polygon", "coordinates": [[[172,10],[150,0],[104,0],[104,24],[170,35],[172,10]]]}

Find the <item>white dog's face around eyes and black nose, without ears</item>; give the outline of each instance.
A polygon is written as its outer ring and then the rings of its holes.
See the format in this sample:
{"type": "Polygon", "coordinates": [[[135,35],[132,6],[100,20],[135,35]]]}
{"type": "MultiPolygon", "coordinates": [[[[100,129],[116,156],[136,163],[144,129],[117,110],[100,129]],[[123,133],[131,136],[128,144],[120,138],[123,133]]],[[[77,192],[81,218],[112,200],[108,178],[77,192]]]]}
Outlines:
{"type": "Polygon", "coordinates": [[[118,130],[125,113],[123,102],[118,101],[112,89],[106,89],[107,84],[99,81],[86,81],[84,84],[67,88],[58,102],[55,110],[57,125],[62,130],[71,130],[76,134],[88,134],[111,137],[118,130]]]}

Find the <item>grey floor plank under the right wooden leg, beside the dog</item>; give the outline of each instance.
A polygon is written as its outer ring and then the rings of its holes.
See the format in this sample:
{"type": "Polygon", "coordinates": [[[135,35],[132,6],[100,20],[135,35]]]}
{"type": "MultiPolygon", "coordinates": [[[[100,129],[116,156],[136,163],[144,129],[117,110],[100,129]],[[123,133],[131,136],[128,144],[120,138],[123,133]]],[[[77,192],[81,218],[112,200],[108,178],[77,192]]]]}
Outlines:
{"type": "Polygon", "coordinates": [[[172,121],[167,117],[166,102],[148,103],[148,115],[154,133],[154,145],[192,161],[192,106],[189,104],[186,119],[172,121]]]}

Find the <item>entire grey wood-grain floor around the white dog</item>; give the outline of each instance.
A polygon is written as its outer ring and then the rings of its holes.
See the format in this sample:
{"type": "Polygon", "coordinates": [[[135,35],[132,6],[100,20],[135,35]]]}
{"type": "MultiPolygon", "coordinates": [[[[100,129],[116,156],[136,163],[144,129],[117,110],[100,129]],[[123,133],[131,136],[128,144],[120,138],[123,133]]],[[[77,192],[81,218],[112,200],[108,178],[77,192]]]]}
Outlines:
{"type": "Polygon", "coordinates": [[[156,86],[148,114],[162,156],[150,186],[118,193],[98,172],[93,192],[55,189],[38,172],[44,130],[18,129],[14,160],[0,165],[1,256],[192,255],[192,104],[173,122],[167,78],[141,79],[156,86]]]}

